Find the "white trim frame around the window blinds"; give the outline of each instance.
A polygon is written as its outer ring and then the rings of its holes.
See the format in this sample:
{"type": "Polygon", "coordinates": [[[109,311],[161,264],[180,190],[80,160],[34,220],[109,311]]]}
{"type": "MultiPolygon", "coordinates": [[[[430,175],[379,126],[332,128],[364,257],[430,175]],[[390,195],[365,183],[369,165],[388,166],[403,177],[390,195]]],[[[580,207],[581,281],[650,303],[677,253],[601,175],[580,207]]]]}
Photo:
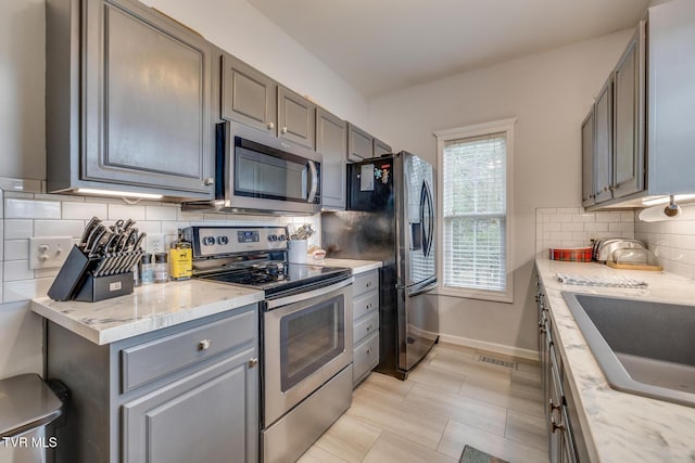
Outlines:
{"type": "Polygon", "coordinates": [[[437,180],[440,188],[437,192],[438,214],[438,240],[437,247],[437,278],[441,282],[438,294],[443,296],[464,297],[468,299],[482,299],[497,303],[514,303],[514,262],[511,249],[514,247],[514,126],[517,119],[508,118],[490,123],[439,130],[437,137],[437,180]],[[506,138],[506,249],[505,249],[505,291],[458,288],[444,285],[444,145],[446,142],[459,139],[485,137],[494,133],[504,133],[506,138]]]}

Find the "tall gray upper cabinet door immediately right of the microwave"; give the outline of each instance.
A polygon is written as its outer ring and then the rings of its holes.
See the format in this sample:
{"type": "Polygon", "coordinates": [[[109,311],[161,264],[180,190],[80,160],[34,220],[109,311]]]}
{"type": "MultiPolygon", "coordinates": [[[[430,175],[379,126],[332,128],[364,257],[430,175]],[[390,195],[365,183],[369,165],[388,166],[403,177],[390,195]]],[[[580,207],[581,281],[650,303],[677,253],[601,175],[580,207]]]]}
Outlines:
{"type": "Polygon", "coordinates": [[[321,164],[321,203],[324,207],[345,208],[348,152],[346,123],[329,112],[316,110],[316,151],[321,164]]]}

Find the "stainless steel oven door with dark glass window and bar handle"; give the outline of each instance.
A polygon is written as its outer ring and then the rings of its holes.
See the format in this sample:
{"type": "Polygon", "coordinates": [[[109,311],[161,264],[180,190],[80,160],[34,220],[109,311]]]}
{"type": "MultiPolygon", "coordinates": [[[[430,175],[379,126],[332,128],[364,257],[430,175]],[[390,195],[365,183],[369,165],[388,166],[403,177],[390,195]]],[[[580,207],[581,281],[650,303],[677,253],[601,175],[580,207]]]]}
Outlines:
{"type": "Polygon", "coordinates": [[[352,279],[267,303],[264,427],[352,362],[351,283],[352,279]]]}

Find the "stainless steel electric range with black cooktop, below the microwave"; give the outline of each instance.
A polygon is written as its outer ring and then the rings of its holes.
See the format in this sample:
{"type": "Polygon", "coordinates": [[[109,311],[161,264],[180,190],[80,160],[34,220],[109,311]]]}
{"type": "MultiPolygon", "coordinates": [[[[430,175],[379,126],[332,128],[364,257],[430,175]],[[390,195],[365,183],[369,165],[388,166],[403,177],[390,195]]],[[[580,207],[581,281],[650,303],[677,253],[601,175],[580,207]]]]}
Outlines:
{"type": "Polygon", "coordinates": [[[351,270],[287,262],[281,227],[191,227],[193,276],[265,292],[261,454],[292,462],[352,403],[351,270]]]}

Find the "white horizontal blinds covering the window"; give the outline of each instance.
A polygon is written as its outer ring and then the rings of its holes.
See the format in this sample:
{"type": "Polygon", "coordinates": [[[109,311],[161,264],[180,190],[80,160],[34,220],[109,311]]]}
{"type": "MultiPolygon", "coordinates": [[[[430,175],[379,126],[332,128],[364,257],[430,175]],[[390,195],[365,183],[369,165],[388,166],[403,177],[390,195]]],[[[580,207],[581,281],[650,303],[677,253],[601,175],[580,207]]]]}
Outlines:
{"type": "Polygon", "coordinates": [[[442,160],[444,286],[504,293],[506,136],[447,140],[442,160]]]}

